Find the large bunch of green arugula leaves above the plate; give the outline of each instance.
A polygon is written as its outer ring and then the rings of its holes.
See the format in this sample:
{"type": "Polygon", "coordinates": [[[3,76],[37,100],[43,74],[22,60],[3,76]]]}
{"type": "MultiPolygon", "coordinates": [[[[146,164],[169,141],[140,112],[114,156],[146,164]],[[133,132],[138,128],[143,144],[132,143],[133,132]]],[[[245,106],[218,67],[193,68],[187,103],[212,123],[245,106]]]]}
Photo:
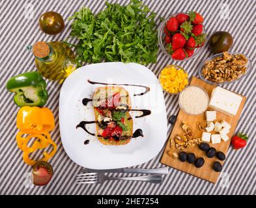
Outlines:
{"type": "Polygon", "coordinates": [[[69,18],[74,19],[71,36],[79,39],[78,61],[156,62],[156,14],[139,0],[126,6],[106,2],[106,6],[96,15],[83,7],[69,18]]]}

